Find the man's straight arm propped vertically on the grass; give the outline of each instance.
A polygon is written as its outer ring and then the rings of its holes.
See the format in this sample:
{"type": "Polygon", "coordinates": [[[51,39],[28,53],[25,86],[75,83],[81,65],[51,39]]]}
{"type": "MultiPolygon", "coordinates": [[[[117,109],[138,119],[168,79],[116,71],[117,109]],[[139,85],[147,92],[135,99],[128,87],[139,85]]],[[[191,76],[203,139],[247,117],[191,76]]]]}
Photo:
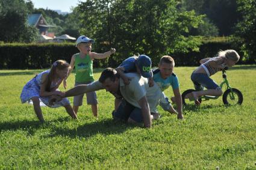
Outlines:
{"type": "Polygon", "coordinates": [[[144,126],[150,128],[152,126],[151,116],[148,101],[146,100],[146,96],[143,96],[142,99],[138,101],[138,104],[142,108],[142,117],[144,121],[144,126]]]}

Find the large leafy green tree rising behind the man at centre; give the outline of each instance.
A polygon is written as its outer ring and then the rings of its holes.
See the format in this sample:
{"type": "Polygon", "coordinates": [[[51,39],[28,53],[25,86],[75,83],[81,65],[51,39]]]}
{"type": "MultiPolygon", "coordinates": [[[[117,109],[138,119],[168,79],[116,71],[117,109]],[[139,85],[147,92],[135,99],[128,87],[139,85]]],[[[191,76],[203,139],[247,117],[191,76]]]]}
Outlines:
{"type": "Polygon", "coordinates": [[[198,50],[199,37],[190,36],[189,27],[197,27],[202,16],[177,5],[174,0],[89,0],[79,5],[81,32],[96,39],[99,51],[116,47],[119,62],[136,52],[160,57],[198,50]]]}

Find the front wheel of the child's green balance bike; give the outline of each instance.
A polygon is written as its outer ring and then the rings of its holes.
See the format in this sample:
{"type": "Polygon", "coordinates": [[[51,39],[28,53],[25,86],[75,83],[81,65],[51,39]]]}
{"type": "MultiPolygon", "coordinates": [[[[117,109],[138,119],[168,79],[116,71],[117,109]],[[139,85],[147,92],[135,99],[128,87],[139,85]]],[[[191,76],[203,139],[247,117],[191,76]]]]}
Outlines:
{"type": "Polygon", "coordinates": [[[237,90],[236,88],[228,89],[224,92],[222,96],[223,103],[225,105],[242,105],[243,103],[243,94],[241,91],[237,90]],[[233,95],[234,97],[233,97],[233,95]]]}

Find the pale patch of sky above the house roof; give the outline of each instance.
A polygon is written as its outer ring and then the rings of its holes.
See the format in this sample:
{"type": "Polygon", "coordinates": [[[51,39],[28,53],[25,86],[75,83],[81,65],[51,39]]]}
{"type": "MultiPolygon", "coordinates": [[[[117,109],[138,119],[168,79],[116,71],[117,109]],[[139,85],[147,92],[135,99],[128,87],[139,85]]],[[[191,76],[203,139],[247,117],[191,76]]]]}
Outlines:
{"type": "Polygon", "coordinates": [[[34,8],[48,8],[48,10],[61,10],[62,12],[71,12],[71,7],[76,7],[80,2],[86,0],[31,0],[34,8]]]}

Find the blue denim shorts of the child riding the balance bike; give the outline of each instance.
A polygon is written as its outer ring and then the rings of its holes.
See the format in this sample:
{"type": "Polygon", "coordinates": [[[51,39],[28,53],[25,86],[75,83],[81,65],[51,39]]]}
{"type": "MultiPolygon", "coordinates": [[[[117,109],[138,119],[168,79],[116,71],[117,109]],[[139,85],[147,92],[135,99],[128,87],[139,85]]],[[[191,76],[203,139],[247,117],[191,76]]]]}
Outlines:
{"type": "Polygon", "coordinates": [[[220,89],[219,85],[204,73],[192,73],[191,80],[196,91],[204,90],[204,87],[207,89],[220,89]]]}

